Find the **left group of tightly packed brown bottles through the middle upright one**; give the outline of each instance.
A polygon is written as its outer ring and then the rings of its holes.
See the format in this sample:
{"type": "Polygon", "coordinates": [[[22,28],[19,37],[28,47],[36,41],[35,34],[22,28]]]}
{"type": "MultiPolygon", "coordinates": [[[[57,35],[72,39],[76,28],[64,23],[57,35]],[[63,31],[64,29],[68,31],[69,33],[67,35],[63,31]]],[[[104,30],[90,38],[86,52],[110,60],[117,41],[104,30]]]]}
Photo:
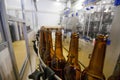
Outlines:
{"type": "Polygon", "coordinates": [[[54,72],[64,80],[64,66],[66,60],[62,51],[62,33],[56,32],[55,51],[53,50],[51,31],[47,28],[40,31],[39,52],[41,58],[54,72]]]}

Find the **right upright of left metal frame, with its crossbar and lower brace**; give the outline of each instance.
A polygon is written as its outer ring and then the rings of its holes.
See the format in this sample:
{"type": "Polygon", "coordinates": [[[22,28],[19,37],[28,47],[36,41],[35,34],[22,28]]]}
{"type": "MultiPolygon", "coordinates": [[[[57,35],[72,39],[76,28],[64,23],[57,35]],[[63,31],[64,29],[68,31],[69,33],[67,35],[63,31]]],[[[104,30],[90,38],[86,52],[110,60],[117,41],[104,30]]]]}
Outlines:
{"type": "MultiPolygon", "coordinates": [[[[14,10],[14,9],[13,9],[14,10]]],[[[23,78],[23,75],[24,75],[24,71],[26,69],[26,66],[29,62],[30,64],[30,69],[32,71],[32,68],[31,68],[31,61],[30,61],[30,50],[29,50],[29,41],[28,41],[28,33],[27,33],[27,29],[26,29],[26,23],[25,23],[25,9],[24,9],[24,0],[21,0],[21,9],[22,11],[22,17],[23,19],[19,19],[19,18],[16,18],[16,17],[13,17],[13,16],[10,16],[10,15],[7,15],[8,17],[8,20],[9,21],[13,21],[13,22],[21,22],[23,24],[23,35],[24,35],[24,39],[25,39],[25,45],[26,45],[26,51],[27,51],[27,54],[26,54],[26,58],[25,58],[25,61],[23,63],[23,66],[20,70],[20,73],[19,73],[19,76],[20,76],[20,79],[23,78]]],[[[33,11],[31,11],[33,12],[33,11]]]]}

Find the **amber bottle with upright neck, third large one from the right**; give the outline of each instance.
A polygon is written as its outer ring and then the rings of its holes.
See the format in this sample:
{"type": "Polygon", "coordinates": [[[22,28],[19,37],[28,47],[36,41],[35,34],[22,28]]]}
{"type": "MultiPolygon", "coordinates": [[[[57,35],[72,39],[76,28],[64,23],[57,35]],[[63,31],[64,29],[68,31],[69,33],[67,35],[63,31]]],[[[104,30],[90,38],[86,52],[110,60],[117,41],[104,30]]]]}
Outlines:
{"type": "Polygon", "coordinates": [[[62,51],[62,33],[61,31],[56,32],[55,39],[55,54],[52,58],[51,67],[55,71],[55,73],[64,80],[64,67],[66,61],[63,56],[62,51]]]}

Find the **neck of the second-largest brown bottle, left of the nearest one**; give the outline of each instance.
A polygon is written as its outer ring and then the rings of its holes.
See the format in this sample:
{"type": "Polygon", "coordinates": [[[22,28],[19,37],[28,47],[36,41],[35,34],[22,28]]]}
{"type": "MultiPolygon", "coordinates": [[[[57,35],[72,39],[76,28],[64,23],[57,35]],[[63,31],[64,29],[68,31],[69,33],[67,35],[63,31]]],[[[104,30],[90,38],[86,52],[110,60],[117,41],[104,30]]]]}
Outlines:
{"type": "Polygon", "coordinates": [[[68,63],[78,64],[78,35],[73,33],[71,35],[68,63]]]}

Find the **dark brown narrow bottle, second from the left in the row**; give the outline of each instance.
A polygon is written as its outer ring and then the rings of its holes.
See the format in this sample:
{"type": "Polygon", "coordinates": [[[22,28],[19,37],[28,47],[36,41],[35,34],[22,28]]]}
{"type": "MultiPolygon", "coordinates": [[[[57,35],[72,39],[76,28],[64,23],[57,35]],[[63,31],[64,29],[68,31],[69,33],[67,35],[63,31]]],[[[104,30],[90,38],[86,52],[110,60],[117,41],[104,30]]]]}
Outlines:
{"type": "Polygon", "coordinates": [[[43,61],[45,62],[46,65],[51,67],[51,51],[50,51],[50,40],[49,40],[49,31],[45,31],[45,39],[46,39],[46,50],[45,53],[43,54],[43,61]]]}

